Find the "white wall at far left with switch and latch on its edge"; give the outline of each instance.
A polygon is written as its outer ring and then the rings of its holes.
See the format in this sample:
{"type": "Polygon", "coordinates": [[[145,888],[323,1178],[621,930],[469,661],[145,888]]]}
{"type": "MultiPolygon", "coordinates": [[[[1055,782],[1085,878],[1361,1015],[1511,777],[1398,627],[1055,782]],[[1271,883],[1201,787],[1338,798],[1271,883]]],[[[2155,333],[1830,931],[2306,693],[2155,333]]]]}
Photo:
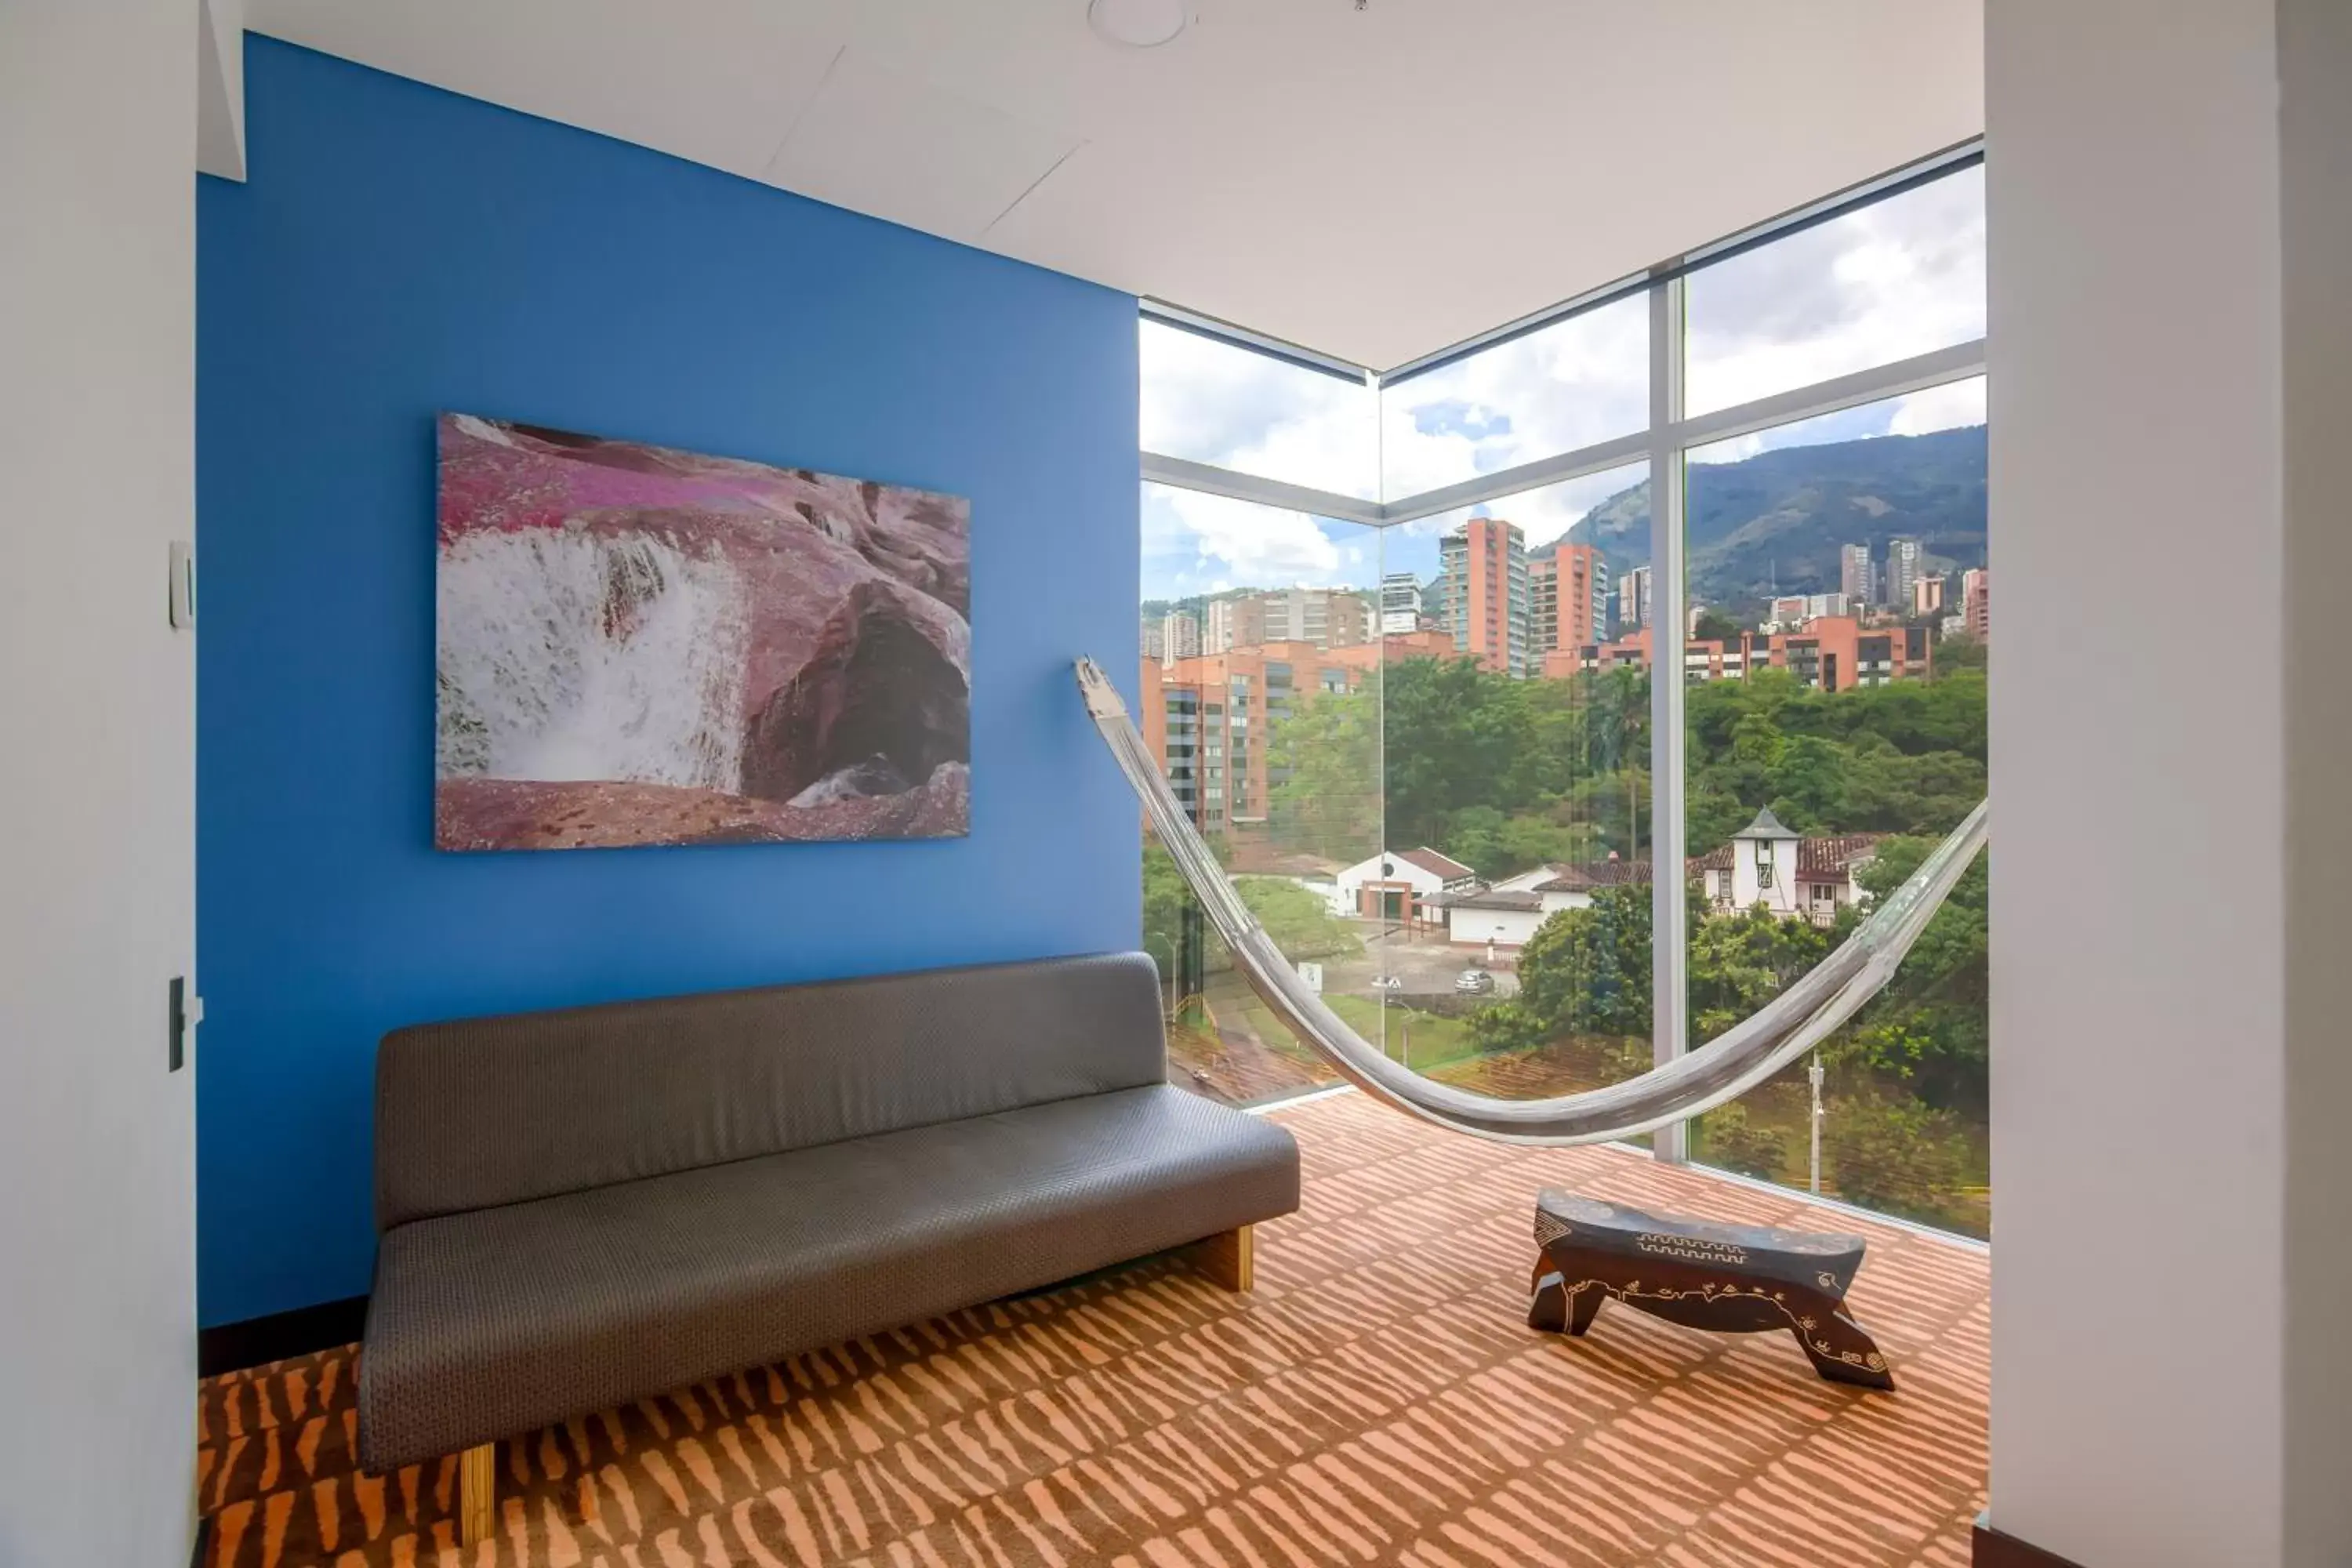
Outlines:
{"type": "Polygon", "coordinates": [[[188,1561],[191,0],[0,7],[0,1563],[188,1561]]]}

